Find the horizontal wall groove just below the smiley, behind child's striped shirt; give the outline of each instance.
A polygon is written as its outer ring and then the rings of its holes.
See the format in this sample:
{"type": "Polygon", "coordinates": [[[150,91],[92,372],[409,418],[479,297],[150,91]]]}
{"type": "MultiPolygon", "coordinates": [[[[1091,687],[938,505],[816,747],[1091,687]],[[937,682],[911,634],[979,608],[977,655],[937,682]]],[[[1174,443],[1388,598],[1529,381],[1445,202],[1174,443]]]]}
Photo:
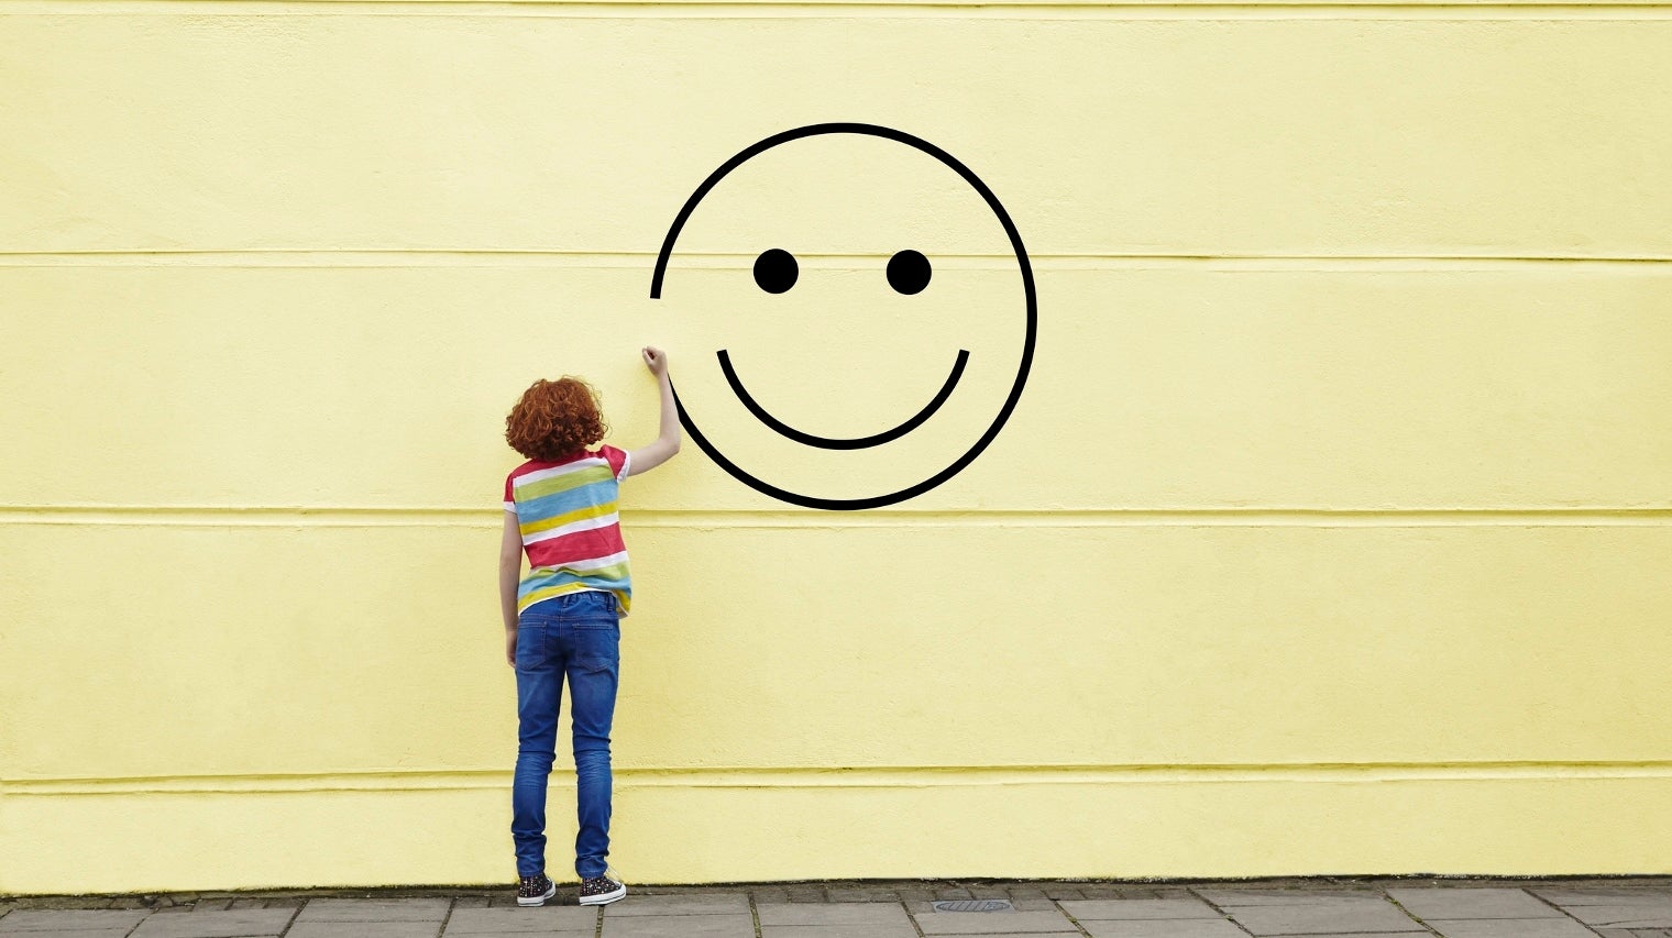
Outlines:
{"type": "MultiPolygon", "coordinates": [[[[1672,507],[1632,508],[976,508],[976,510],[672,510],[624,508],[637,528],[874,527],[1665,527],[1672,507]]],[[[70,527],[463,527],[495,528],[503,508],[309,508],[169,505],[7,505],[0,525],[70,527]]]]}

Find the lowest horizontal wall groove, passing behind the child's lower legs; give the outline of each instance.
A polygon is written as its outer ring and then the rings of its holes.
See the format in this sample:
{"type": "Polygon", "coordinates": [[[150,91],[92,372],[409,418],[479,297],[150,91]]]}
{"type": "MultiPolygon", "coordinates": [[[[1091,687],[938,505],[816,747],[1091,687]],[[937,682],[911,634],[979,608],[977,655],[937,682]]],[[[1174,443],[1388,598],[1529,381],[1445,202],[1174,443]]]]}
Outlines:
{"type": "MultiPolygon", "coordinates": [[[[573,771],[555,771],[573,784],[573,771]]],[[[1272,762],[1202,766],[615,767],[634,788],[968,788],[1013,784],[1672,779],[1672,761],[1272,762]]],[[[507,789],[510,769],[0,779],[5,796],[507,789]]]]}

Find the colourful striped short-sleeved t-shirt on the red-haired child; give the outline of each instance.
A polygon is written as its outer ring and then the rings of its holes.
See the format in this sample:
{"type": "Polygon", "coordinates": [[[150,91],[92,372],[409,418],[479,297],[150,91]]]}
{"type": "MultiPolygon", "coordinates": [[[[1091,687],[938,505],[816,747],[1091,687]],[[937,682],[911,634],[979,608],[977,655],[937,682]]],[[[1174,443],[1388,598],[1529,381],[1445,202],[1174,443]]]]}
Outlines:
{"type": "Polygon", "coordinates": [[[530,570],[517,587],[517,612],[579,590],[615,594],[627,615],[632,579],[615,497],[627,453],[599,446],[568,460],[528,460],[505,477],[505,510],[517,515],[530,570]]]}

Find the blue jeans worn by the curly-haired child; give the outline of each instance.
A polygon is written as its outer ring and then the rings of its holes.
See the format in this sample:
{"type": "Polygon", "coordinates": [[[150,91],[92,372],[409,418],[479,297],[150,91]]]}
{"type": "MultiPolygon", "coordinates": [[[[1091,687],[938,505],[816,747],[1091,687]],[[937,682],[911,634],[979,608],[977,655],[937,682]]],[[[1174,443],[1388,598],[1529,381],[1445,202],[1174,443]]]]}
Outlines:
{"type": "Polygon", "coordinates": [[[575,873],[602,876],[610,853],[610,721],[620,674],[615,595],[582,590],[540,600],[517,617],[517,774],[512,843],[517,874],[545,871],[545,783],[557,756],[557,711],[568,675],[580,831],[575,873]]]}

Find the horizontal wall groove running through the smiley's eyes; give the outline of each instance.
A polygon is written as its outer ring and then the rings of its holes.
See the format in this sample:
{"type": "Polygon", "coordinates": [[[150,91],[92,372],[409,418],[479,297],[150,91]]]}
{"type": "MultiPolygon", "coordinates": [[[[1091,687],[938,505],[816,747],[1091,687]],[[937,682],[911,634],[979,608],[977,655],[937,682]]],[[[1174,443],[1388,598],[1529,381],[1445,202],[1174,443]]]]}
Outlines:
{"type": "MultiPolygon", "coordinates": [[[[874,264],[888,254],[798,254],[809,268],[874,264]]],[[[754,254],[681,252],[681,266],[751,269],[754,254]]],[[[1010,254],[935,254],[936,264],[991,269],[1013,266],[1010,254]]],[[[1672,256],[1328,256],[1328,254],[1043,254],[1030,252],[1035,269],[1212,269],[1212,271],[1501,271],[1515,268],[1585,266],[1642,269],[1672,264],[1672,256]]],[[[261,249],[261,251],[0,251],[0,268],[584,268],[642,269],[649,276],[655,252],[610,251],[493,251],[493,249],[261,249]]]]}

